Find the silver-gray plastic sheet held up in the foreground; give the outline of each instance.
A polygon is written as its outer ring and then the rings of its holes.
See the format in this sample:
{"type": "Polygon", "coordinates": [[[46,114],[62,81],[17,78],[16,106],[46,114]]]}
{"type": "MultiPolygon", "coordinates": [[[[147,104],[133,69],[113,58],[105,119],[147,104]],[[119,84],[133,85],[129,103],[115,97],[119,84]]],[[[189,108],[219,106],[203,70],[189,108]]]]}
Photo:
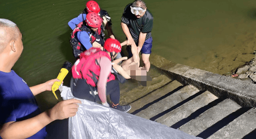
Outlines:
{"type": "MultiPolygon", "coordinates": [[[[62,86],[61,96],[75,98],[62,86]]],[[[77,99],[77,98],[75,98],[77,99]]],[[[69,118],[69,139],[201,139],[180,130],[85,99],[76,116],[69,118]]]]}

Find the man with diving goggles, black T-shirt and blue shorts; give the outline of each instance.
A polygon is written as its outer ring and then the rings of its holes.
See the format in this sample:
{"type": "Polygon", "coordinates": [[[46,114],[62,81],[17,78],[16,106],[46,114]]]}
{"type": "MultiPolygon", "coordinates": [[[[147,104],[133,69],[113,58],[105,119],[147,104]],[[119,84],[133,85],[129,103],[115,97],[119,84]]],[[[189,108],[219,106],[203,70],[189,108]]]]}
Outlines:
{"type": "Polygon", "coordinates": [[[128,4],[123,12],[121,27],[127,37],[127,49],[129,57],[139,66],[139,53],[142,54],[142,61],[146,71],[149,71],[149,56],[152,49],[151,31],[153,28],[153,16],[147,10],[143,0],[135,0],[128,4]]]}

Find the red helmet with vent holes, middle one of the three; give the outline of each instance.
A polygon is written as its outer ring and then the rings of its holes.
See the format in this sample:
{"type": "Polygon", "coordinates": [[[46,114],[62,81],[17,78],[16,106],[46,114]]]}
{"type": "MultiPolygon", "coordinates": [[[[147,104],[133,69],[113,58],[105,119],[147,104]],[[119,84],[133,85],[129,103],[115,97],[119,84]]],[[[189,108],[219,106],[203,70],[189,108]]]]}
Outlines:
{"type": "Polygon", "coordinates": [[[95,12],[88,13],[86,15],[85,22],[87,23],[88,26],[94,27],[94,28],[100,27],[102,24],[100,16],[98,15],[98,13],[95,13],[95,12]]]}

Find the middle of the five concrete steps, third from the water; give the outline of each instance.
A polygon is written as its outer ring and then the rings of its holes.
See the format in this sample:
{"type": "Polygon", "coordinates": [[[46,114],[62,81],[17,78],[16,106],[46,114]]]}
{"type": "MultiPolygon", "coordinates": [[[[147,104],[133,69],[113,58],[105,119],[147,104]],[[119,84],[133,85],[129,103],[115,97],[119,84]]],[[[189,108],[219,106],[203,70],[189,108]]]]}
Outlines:
{"type": "Polygon", "coordinates": [[[207,108],[213,107],[216,103],[218,103],[218,101],[215,101],[218,98],[209,91],[199,91],[188,99],[189,101],[182,104],[178,108],[174,106],[174,108],[170,108],[165,112],[159,113],[152,118],[152,120],[156,119],[156,121],[161,124],[171,126],[172,128],[178,128],[180,126],[180,123],[178,123],[179,121],[188,118],[196,111],[203,113],[207,110],[207,108]],[[207,107],[207,105],[210,107],[207,107]],[[204,111],[201,111],[201,108],[204,108],[204,111]]]}

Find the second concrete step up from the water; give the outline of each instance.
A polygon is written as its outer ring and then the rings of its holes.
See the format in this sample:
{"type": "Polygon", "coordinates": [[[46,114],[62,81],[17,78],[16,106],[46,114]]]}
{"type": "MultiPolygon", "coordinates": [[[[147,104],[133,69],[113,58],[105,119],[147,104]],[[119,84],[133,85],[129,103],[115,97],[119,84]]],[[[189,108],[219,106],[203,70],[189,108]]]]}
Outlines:
{"type": "MultiPolygon", "coordinates": [[[[166,90],[173,90],[174,87],[174,85],[168,85],[166,86],[166,90]]],[[[185,99],[188,99],[190,96],[196,94],[197,92],[199,92],[199,90],[192,85],[179,86],[175,90],[168,93],[168,96],[162,97],[161,100],[156,99],[144,105],[144,107],[147,108],[136,113],[136,116],[151,119],[157,114],[174,107],[178,103],[184,102],[185,99]]]]}

